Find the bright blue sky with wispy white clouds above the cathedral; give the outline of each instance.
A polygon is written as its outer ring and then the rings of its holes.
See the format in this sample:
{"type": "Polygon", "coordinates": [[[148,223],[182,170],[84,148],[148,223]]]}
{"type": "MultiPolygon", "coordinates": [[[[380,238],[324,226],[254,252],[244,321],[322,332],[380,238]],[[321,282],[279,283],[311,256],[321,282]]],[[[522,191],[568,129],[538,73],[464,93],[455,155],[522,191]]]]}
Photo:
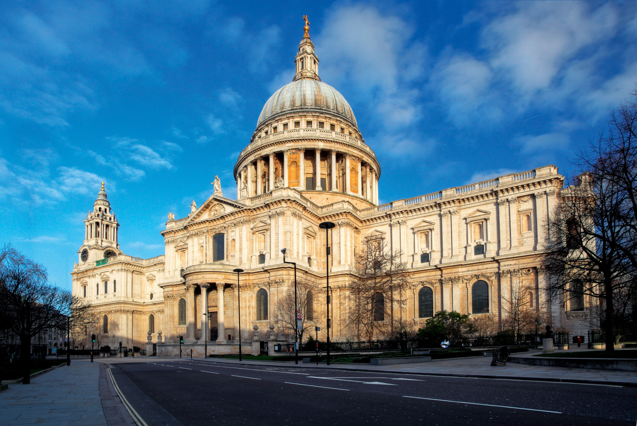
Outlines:
{"type": "Polygon", "coordinates": [[[232,169],[292,79],[320,77],[382,166],[381,202],[555,164],[637,82],[637,2],[0,1],[0,243],[70,287],[106,182],[125,253],[232,169]]]}

